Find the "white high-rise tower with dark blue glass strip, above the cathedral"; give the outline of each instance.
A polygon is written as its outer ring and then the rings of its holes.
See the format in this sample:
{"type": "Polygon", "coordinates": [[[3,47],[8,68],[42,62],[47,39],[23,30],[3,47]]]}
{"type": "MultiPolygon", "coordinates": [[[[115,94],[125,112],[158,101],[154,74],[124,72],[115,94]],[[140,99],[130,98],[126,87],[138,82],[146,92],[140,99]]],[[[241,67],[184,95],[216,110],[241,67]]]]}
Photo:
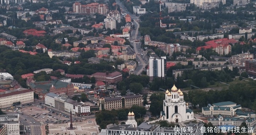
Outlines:
{"type": "Polygon", "coordinates": [[[165,77],[166,58],[149,58],[149,78],[153,80],[154,77],[165,77]]]}

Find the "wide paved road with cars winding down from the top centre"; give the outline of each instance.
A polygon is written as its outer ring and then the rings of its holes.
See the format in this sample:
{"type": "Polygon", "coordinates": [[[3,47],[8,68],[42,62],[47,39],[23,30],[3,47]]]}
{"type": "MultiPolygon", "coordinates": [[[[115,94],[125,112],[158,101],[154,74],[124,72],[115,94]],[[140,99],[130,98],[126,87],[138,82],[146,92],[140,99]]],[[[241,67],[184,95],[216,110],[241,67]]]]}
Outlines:
{"type": "Polygon", "coordinates": [[[135,40],[139,40],[139,41],[141,40],[141,36],[140,36],[139,31],[138,31],[140,25],[137,22],[137,19],[139,19],[139,17],[136,17],[133,13],[130,13],[129,11],[127,11],[126,7],[124,7],[124,5],[119,0],[116,0],[116,3],[120,6],[120,8],[122,8],[122,10],[124,12],[127,12],[131,16],[131,18],[134,20],[133,24],[134,24],[136,29],[131,31],[130,41],[133,41],[133,43],[131,43],[131,44],[134,47],[133,48],[134,52],[137,54],[136,55],[136,60],[138,61],[138,66],[135,69],[135,71],[133,71],[132,73],[135,74],[135,75],[140,75],[142,71],[146,70],[145,66],[148,63],[148,59],[146,58],[143,49],[140,48],[141,43],[140,42],[134,42],[135,40]],[[140,55],[138,55],[138,53],[140,55]],[[141,54],[143,54],[143,56],[141,54]]]}

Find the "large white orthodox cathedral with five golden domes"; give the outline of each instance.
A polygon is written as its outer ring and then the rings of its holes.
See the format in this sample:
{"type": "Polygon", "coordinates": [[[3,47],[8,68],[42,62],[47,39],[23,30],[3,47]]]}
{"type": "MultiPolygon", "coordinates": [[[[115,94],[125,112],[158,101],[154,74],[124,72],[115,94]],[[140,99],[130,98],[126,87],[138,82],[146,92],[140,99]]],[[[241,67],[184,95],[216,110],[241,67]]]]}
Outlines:
{"type": "Polygon", "coordinates": [[[188,103],[184,101],[182,91],[173,85],[171,92],[168,89],[165,92],[163,100],[163,111],[161,111],[161,120],[168,122],[185,122],[194,119],[193,111],[188,107],[188,103]]]}

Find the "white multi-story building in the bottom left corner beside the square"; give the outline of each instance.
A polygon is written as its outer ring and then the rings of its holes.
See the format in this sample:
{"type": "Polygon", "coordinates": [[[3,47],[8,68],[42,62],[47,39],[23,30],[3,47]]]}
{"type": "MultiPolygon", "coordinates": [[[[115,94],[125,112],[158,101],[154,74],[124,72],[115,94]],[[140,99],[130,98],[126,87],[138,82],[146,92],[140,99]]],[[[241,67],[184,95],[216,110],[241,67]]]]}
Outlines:
{"type": "Polygon", "coordinates": [[[7,135],[20,135],[20,115],[0,115],[0,123],[7,127],[7,135]]]}

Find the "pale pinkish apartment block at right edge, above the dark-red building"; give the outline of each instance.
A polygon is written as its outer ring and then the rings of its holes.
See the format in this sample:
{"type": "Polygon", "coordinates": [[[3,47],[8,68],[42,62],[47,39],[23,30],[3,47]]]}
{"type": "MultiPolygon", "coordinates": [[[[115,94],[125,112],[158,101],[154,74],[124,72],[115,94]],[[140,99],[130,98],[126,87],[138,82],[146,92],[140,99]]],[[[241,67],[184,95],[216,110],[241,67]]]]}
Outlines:
{"type": "Polygon", "coordinates": [[[233,55],[231,58],[232,58],[232,65],[245,67],[246,61],[253,60],[253,54],[250,54],[250,52],[240,53],[237,55],[233,55]]]}

